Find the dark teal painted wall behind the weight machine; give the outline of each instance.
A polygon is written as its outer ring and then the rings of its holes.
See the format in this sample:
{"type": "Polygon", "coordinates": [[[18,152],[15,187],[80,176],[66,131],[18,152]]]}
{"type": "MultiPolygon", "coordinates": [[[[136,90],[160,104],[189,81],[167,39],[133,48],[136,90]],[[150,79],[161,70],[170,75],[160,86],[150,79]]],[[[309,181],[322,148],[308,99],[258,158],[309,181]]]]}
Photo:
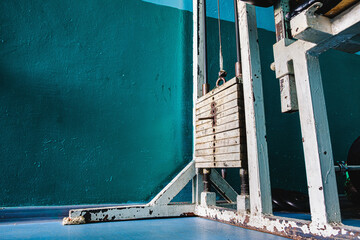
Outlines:
{"type": "MultiPolygon", "coordinates": [[[[144,202],[191,160],[190,12],[140,0],[14,0],[0,13],[0,206],[144,202]]],[[[222,30],[233,76],[233,23],[222,30]]],[[[269,68],[275,36],[259,37],[272,185],[305,192],[298,114],[280,113],[269,68]]],[[[212,18],[208,41],[214,86],[212,18]]],[[[343,160],[360,135],[360,56],[320,60],[343,160]]],[[[237,188],[237,171],[229,181],[237,188]]]]}

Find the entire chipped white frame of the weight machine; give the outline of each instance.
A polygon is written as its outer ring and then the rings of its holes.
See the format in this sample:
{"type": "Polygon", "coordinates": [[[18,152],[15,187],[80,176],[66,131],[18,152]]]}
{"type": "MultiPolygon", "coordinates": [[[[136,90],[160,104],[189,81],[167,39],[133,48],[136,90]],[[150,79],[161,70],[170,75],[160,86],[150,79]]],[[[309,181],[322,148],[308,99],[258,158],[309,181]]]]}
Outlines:
{"type": "MultiPolygon", "coordinates": [[[[151,202],[106,208],[70,210],[69,220],[82,216],[85,222],[106,222],[130,219],[198,216],[232,225],[291,238],[360,238],[360,228],[341,223],[330,142],[325,99],[318,56],[360,33],[360,3],[344,13],[328,19],[315,14],[317,3],[286,21],[289,0],[275,6],[277,43],[274,45],[273,68],[280,79],[282,111],[299,111],[304,146],[311,221],[277,217],[272,214],[271,184],[266,142],[261,61],[258,46],[255,7],[237,0],[240,31],[241,65],[244,89],[245,122],[249,171],[249,211],[239,207],[219,207],[203,192],[202,174],[190,162],[151,202]],[[357,13],[357,14],[356,14],[357,13]],[[288,37],[288,29],[297,41],[288,37]],[[192,203],[171,203],[171,200],[192,181],[192,203]]],[[[206,61],[205,0],[193,1],[193,102],[202,96],[206,61]]],[[[357,43],[355,42],[355,45],[357,43]]],[[[360,46],[360,43],[359,45],[360,46]]],[[[194,134],[195,138],[195,134],[194,134]]],[[[195,139],[194,139],[195,144],[195,139]]],[[[194,148],[195,149],[195,148],[194,148]]],[[[194,154],[195,159],[195,154],[194,154]]],[[[212,186],[229,203],[239,195],[217,171],[211,171],[212,186]]]]}

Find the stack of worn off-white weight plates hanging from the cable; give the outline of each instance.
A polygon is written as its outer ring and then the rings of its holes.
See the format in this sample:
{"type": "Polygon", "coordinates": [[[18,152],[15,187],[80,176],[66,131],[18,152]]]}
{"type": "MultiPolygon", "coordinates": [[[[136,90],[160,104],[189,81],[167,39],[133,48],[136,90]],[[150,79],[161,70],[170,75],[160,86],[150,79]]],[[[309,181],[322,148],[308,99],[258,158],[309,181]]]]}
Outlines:
{"type": "Polygon", "coordinates": [[[196,102],[195,167],[238,168],[246,158],[242,83],[233,78],[196,102]]]}

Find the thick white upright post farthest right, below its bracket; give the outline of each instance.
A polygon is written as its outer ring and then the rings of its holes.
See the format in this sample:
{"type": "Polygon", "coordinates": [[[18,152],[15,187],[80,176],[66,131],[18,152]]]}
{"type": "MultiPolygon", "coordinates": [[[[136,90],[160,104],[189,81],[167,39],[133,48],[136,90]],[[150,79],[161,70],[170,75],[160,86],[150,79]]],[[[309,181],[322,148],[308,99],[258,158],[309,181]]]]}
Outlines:
{"type": "Polygon", "coordinates": [[[315,224],[341,222],[329,124],[317,56],[294,56],[296,88],[304,146],[311,219],[315,224]]]}

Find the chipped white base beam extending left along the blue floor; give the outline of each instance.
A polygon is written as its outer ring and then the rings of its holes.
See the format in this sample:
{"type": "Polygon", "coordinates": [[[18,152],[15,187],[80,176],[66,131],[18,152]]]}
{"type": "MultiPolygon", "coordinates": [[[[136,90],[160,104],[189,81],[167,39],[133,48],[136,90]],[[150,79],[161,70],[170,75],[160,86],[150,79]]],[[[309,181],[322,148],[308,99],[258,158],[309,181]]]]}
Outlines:
{"type": "Polygon", "coordinates": [[[193,216],[195,205],[173,204],[173,205],[127,205],[108,208],[88,208],[70,210],[69,217],[83,216],[86,223],[109,222],[131,219],[163,218],[163,217],[185,217],[193,216]]]}

